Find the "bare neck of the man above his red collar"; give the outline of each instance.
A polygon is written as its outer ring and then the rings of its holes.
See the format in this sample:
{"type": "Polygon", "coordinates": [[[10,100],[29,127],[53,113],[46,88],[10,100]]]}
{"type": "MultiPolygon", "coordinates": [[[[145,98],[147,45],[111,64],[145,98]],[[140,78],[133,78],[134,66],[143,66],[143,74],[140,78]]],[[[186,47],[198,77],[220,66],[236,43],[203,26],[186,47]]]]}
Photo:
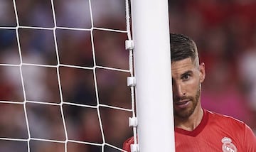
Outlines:
{"type": "Polygon", "coordinates": [[[186,131],[193,131],[201,123],[203,119],[203,109],[201,105],[196,107],[195,111],[187,119],[174,117],[175,127],[186,131]]]}

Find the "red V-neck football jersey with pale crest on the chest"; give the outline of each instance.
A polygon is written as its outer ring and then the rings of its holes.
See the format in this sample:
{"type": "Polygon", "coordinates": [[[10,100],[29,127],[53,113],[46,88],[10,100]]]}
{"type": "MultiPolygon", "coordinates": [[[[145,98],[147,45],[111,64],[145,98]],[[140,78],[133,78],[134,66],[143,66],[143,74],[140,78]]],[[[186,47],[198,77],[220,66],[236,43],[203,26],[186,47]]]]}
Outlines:
{"type": "MultiPolygon", "coordinates": [[[[128,139],[123,149],[130,152],[132,143],[133,139],[128,139]]],[[[175,147],[176,152],[256,152],[256,136],[242,121],[204,110],[193,131],[175,128],[175,147]]]]}

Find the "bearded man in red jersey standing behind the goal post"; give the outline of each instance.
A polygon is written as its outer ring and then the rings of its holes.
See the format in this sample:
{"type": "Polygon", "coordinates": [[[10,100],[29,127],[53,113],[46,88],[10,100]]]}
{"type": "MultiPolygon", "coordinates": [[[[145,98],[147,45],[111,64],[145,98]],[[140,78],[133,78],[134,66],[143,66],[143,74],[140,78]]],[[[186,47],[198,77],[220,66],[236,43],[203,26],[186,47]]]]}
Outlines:
{"type": "MultiPolygon", "coordinates": [[[[181,34],[171,33],[171,76],[176,151],[256,151],[256,137],[249,126],[201,107],[205,64],[199,64],[196,43],[181,34]]],[[[130,151],[132,143],[128,139],[123,149],[130,151]]]]}

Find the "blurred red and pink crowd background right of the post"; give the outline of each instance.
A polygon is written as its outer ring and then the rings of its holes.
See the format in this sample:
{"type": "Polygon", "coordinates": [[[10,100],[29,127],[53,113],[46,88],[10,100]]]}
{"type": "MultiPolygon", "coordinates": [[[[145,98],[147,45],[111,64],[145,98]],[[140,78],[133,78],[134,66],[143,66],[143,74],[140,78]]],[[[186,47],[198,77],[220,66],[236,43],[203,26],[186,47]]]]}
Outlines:
{"type": "Polygon", "coordinates": [[[169,0],[170,29],[193,38],[206,64],[203,107],[256,131],[256,2],[169,0]]]}

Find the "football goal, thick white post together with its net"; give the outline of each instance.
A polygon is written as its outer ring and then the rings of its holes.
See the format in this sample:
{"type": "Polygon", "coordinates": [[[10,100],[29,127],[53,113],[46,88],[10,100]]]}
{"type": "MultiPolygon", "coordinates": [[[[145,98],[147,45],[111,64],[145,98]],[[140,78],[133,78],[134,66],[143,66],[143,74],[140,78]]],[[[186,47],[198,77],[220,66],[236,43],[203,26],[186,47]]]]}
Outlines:
{"type": "Polygon", "coordinates": [[[0,151],[174,151],[167,6],[1,0],[0,151]]]}

